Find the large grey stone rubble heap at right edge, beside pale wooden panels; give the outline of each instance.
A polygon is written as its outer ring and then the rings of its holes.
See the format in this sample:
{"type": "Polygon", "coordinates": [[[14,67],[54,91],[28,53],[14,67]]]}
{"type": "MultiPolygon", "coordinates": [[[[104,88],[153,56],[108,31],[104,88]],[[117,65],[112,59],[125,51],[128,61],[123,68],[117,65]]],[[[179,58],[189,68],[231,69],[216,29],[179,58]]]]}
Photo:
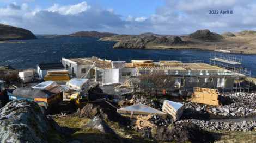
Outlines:
{"type": "Polygon", "coordinates": [[[230,104],[210,107],[215,115],[224,116],[250,116],[256,113],[255,93],[236,93],[225,96],[230,104]]]}

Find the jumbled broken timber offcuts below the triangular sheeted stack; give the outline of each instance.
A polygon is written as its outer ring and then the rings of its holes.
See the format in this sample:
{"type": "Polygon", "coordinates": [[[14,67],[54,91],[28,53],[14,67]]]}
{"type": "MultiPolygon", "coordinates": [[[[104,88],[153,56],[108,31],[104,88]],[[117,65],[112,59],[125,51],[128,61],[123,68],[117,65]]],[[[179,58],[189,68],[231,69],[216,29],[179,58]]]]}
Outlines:
{"type": "Polygon", "coordinates": [[[151,115],[148,116],[137,116],[136,119],[130,119],[130,126],[133,126],[132,128],[139,128],[142,129],[144,127],[153,128],[155,125],[149,122],[148,120],[151,118],[151,115]]]}

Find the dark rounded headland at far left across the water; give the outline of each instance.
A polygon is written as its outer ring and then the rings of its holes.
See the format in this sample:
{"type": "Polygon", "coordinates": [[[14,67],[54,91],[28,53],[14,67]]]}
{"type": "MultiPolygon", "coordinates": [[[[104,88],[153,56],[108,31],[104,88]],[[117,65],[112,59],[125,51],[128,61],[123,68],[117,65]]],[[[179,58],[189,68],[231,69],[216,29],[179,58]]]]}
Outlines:
{"type": "Polygon", "coordinates": [[[0,24],[0,41],[26,39],[36,39],[36,36],[31,31],[23,28],[0,24]]]}

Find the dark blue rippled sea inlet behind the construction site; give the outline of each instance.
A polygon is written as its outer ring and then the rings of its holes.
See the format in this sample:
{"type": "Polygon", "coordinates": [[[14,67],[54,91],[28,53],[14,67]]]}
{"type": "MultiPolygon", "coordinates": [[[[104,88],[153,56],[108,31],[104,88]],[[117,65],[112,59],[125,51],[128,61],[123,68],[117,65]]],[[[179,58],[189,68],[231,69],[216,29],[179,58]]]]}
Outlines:
{"type": "MultiPolygon", "coordinates": [[[[212,51],[201,50],[142,50],[113,49],[116,42],[97,41],[99,38],[38,36],[35,40],[15,40],[28,44],[0,44],[0,66],[10,64],[15,69],[36,68],[39,63],[56,63],[62,58],[100,57],[117,60],[181,60],[182,62],[209,63],[212,51]]],[[[234,54],[242,58],[242,67],[256,77],[256,55],[234,54]]]]}

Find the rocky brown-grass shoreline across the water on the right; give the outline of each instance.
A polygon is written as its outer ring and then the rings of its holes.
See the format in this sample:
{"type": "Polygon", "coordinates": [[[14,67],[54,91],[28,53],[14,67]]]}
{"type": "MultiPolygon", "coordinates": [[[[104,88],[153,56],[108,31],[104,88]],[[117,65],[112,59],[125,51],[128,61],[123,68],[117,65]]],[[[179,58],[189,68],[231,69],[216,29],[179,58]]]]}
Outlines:
{"type": "Polygon", "coordinates": [[[222,50],[227,53],[256,54],[256,31],[217,34],[208,29],[188,35],[114,35],[99,41],[117,42],[112,48],[162,50],[222,50]]]}

